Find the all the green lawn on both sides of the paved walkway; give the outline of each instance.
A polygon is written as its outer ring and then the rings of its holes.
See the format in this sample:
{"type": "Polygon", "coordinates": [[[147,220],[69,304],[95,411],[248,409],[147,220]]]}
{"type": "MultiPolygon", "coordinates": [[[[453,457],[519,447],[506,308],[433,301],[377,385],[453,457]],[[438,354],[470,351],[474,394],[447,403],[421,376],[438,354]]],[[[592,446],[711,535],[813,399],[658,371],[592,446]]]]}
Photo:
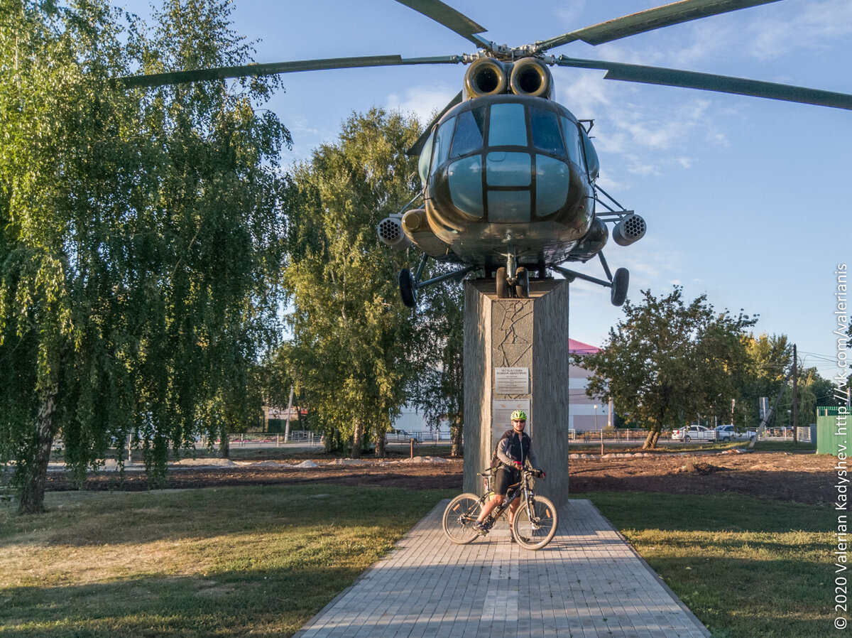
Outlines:
{"type": "MultiPolygon", "coordinates": [[[[291,635],[454,490],[49,493],[0,507],[0,638],[291,635]]],[[[831,508],[589,495],[717,638],[835,635],[831,508]]]]}

